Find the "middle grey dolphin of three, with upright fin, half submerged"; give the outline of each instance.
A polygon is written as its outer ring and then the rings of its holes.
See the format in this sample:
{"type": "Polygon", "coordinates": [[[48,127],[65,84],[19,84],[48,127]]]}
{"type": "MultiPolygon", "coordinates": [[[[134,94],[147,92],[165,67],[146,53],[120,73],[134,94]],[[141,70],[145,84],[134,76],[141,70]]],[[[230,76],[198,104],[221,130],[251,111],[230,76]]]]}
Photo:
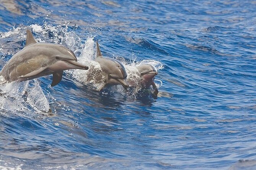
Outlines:
{"type": "Polygon", "coordinates": [[[103,57],[99,50],[98,42],[96,42],[95,61],[99,63],[102,71],[98,72],[94,67],[90,67],[87,81],[93,79],[96,82],[102,83],[102,85],[97,89],[98,91],[102,90],[106,85],[122,85],[124,88],[129,87],[126,82],[126,69],[123,64],[114,58],[103,57]]]}

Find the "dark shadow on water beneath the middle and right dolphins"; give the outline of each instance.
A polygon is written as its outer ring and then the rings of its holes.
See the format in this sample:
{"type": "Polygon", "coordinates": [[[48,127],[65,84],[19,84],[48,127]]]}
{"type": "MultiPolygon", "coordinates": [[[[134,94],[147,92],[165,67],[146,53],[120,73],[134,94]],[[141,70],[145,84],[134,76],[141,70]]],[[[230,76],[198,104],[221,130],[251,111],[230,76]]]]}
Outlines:
{"type": "Polygon", "coordinates": [[[143,106],[152,106],[155,99],[157,99],[157,96],[154,96],[150,90],[141,90],[134,93],[132,89],[127,88],[125,90],[121,85],[109,85],[101,91],[94,91],[91,90],[90,86],[83,83],[75,82],[75,84],[80,88],[74,91],[73,95],[83,98],[80,102],[94,107],[103,107],[104,109],[115,109],[134,101],[139,101],[143,106]],[[94,102],[91,103],[91,101],[94,102]]]}

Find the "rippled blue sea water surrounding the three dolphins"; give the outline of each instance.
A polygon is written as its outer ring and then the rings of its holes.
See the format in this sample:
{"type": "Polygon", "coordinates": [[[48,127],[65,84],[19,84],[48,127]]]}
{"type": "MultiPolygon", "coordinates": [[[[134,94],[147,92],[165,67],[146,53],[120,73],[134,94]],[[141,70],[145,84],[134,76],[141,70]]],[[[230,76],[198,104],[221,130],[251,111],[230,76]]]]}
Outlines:
{"type": "Polygon", "coordinates": [[[55,87],[51,75],[2,87],[1,169],[223,170],[256,159],[254,1],[0,2],[1,69],[29,28],[82,63],[98,40],[128,69],[155,64],[162,82],[157,97],[96,92],[79,71],[55,87]]]}

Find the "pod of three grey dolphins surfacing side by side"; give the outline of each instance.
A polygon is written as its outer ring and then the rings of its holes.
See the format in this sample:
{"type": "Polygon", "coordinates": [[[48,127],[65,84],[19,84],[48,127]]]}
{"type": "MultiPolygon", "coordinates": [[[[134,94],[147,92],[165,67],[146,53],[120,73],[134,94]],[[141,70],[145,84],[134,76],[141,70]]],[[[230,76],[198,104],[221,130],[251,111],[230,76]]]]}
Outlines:
{"type": "MultiPolygon", "coordinates": [[[[61,81],[64,70],[88,69],[88,66],[77,62],[77,57],[67,47],[53,43],[38,43],[29,29],[26,33],[25,47],[13,55],[0,71],[0,76],[4,79],[3,82],[26,81],[52,74],[51,86],[53,87],[61,81]]],[[[102,85],[98,87],[97,91],[101,91],[106,85],[122,85],[124,88],[128,88],[129,84],[133,84],[133,82],[127,83],[126,69],[120,61],[103,57],[97,41],[95,61],[99,63],[101,71],[96,70],[93,66],[90,67],[87,81],[90,82],[93,79],[101,83],[102,85]]],[[[155,75],[158,74],[155,67],[150,64],[142,64],[137,66],[137,74],[144,88],[149,88],[152,85],[158,92],[154,83],[155,75]]]]}

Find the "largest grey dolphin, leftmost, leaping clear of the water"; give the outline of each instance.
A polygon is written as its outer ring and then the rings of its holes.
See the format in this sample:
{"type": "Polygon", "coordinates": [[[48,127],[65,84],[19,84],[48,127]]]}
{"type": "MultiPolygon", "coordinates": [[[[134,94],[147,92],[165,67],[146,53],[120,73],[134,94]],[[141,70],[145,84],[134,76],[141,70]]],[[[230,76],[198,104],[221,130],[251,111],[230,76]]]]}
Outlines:
{"type": "Polygon", "coordinates": [[[37,43],[31,31],[27,30],[25,47],[13,55],[0,75],[7,82],[13,82],[52,74],[51,86],[55,86],[62,79],[63,71],[67,69],[87,70],[88,66],[78,63],[75,54],[63,45],[37,43]]]}

